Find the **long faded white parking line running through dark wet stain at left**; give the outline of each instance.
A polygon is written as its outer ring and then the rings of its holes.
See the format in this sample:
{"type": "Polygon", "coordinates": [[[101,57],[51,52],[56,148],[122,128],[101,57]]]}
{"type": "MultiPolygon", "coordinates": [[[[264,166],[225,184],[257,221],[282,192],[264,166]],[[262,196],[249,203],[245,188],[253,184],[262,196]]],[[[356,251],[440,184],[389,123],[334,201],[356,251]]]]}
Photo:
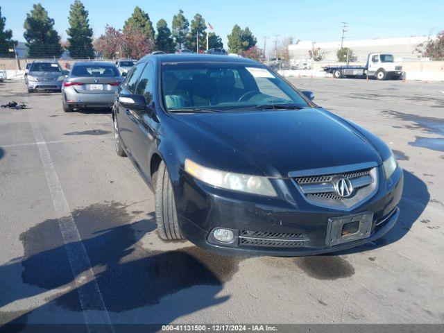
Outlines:
{"type": "Polygon", "coordinates": [[[53,160],[51,160],[51,155],[49,155],[48,147],[44,142],[33,110],[28,110],[28,115],[31,120],[35,142],[38,143],[37,148],[44,167],[46,182],[51,193],[54,210],[56,210],[69,265],[75,278],[78,298],[80,300],[80,306],[82,307],[83,316],[85,317],[87,330],[88,332],[94,330],[94,327],[89,327],[89,325],[105,324],[108,328],[107,332],[114,332],[99,285],[94,279],[94,272],[92,271],[87,251],[80,238],[76,222],[69,209],[67,198],[62,189],[62,185],[60,185],[56,168],[54,167],[53,160]],[[83,284],[85,280],[91,282],[83,284]]]}

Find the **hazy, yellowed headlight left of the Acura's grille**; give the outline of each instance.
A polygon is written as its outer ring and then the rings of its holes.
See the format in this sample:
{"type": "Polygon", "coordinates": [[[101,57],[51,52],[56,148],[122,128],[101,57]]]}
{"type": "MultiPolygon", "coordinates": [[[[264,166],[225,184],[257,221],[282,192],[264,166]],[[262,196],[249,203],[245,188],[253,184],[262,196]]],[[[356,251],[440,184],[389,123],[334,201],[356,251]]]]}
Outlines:
{"type": "Polygon", "coordinates": [[[185,160],[185,171],[198,180],[222,189],[260,196],[277,196],[273,185],[266,177],[210,169],[188,159],[185,160]]]}

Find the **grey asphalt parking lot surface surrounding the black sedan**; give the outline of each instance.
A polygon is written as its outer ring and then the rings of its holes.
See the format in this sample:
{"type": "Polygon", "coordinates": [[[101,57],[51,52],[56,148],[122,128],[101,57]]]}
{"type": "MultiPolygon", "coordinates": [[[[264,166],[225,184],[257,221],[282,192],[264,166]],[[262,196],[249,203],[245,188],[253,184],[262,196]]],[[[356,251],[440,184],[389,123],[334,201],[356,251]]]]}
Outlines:
{"type": "Polygon", "coordinates": [[[0,104],[29,107],[0,109],[0,324],[443,323],[444,85],[289,80],[398,157],[400,220],[377,242],[248,259],[165,243],[110,112],[65,114],[60,94],[0,83],[0,104]]]}

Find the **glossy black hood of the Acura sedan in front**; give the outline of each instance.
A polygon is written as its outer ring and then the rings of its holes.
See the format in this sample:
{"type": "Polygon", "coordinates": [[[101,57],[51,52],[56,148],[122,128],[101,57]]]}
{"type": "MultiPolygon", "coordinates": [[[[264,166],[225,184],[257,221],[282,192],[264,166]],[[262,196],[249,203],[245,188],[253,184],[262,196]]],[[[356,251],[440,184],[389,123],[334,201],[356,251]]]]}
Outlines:
{"type": "Polygon", "coordinates": [[[382,161],[369,139],[323,109],[172,117],[194,130],[187,141],[198,152],[196,162],[217,169],[287,177],[291,171],[382,161]]]}

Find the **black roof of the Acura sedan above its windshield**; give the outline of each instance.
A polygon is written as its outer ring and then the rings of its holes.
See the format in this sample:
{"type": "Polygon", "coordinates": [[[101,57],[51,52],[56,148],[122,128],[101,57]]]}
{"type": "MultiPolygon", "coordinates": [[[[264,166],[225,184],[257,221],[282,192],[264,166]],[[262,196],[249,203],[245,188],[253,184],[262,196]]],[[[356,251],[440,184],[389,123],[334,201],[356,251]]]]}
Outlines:
{"type": "Polygon", "coordinates": [[[150,56],[144,56],[139,62],[144,62],[147,60],[157,61],[157,62],[227,62],[232,64],[245,64],[249,63],[252,65],[262,65],[260,62],[242,57],[227,57],[227,56],[216,56],[212,54],[156,54],[150,56]]]}

